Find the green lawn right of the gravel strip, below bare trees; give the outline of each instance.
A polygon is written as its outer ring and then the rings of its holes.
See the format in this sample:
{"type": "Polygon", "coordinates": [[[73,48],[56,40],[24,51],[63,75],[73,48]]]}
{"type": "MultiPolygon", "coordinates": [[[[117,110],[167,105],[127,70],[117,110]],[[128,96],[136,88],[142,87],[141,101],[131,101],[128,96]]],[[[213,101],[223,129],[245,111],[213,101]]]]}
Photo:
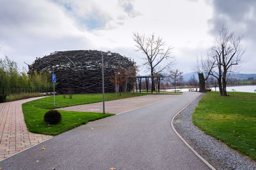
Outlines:
{"type": "Polygon", "coordinates": [[[193,113],[193,123],[231,148],[256,160],[256,94],[207,92],[193,113]]]}

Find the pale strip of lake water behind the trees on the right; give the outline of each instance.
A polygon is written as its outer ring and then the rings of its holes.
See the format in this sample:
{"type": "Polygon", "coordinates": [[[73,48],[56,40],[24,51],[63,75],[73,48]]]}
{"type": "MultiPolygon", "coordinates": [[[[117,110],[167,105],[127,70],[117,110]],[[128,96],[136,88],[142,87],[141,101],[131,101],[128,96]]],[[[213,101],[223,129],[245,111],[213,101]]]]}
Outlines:
{"type": "MultiPolygon", "coordinates": [[[[191,88],[193,89],[193,88],[191,88]]],[[[232,89],[234,89],[235,92],[250,92],[250,93],[254,93],[256,90],[256,85],[243,85],[243,86],[232,86],[232,87],[227,87],[227,92],[232,92],[232,89]]],[[[180,89],[176,89],[176,90],[180,90],[180,89]]],[[[194,88],[194,90],[196,90],[196,88],[194,88]]],[[[199,90],[199,89],[197,89],[199,90]]],[[[219,88],[216,87],[216,90],[218,91],[219,88]]],[[[168,89],[166,91],[174,91],[174,89],[168,89]]],[[[189,89],[181,89],[182,92],[188,92],[189,89]]],[[[212,87],[212,91],[215,91],[215,88],[212,87]]]]}

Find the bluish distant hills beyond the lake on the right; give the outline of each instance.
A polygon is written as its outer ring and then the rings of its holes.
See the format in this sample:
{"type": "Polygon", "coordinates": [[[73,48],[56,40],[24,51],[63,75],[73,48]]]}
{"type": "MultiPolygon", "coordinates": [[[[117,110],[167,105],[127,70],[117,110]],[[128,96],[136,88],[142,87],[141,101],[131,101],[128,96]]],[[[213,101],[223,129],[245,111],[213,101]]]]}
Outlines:
{"type": "MultiPolygon", "coordinates": [[[[196,72],[183,74],[184,81],[189,81],[191,76],[195,75],[196,80],[198,81],[198,75],[196,72]]],[[[237,80],[247,80],[248,78],[256,79],[256,74],[243,74],[243,73],[232,73],[230,78],[236,78],[237,80]]]]}

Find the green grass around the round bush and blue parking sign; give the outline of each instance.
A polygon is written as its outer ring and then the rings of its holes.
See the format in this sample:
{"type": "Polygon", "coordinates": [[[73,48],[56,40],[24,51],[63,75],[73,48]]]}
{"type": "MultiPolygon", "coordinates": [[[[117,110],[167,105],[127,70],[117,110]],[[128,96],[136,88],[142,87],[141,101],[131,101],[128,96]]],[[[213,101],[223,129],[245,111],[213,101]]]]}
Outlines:
{"type": "MultiPolygon", "coordinates": [[[[106,94],[106,101],[115,99],[124,99],[127,97],[143,96],[147,94],[139,93],[122,93],[119,94],[106,94]]],[[[75,106],[79,104],[97,103],[102,101],[102,94],[75,94],[72,99],[64,98],[62,95],[56,96],[56,107],[63,108],[67,106],[75,106]]],[[[90,121],[97,120],[104,117],[109,117],[114,114],[106,113],[91,113],[91,112],[77,112],[77,111],[62,111],[61,122],[56,125],[47,125],[44,122],[44,114],[53,109],[53,96],[37,99],[28,103],[22,104],[22,110],[26,125],[30,132],[38,134],[51,134],[57,135],[62,132],[68,131],[82,124],[86,124],[90,121]]]]}

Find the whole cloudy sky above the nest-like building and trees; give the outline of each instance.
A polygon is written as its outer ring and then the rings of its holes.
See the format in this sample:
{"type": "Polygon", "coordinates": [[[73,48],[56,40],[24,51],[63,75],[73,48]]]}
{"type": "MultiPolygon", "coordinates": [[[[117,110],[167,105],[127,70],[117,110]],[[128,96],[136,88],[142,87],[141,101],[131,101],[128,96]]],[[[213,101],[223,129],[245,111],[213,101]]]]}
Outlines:
{"type": "Polygon", "coordinates": [[[173,47],[173,67],[189,73],[225,24],[243,35],[241,73],[256,73],[255,7],[255,0],[0,0],[0,57],[22,67],[54,51],[111,50],[140,66],[132,33],[154,33],[173,47]]]}

